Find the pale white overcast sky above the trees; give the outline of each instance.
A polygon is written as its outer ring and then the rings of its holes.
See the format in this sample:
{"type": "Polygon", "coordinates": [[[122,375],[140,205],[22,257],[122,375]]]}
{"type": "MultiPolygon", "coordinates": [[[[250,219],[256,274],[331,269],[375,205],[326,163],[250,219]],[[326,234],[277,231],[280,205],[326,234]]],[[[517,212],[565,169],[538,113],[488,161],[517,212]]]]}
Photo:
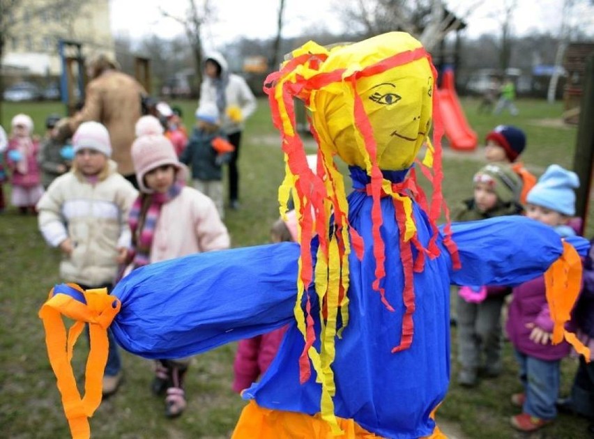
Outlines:
{"type": "MultiPolygon", "coordinates": [[[[467,19],[467,35],[497,32],[501,18],[496,17],[496,13],[503,10],[503,3],[509,1],[480,1],[481,6],[475,8],[467,19]]],[[[563,1],[517,0],[512,18],[515,33],[523,35],[538,29],[558,34],[561,29],[563,1]]],[[[216,0],[212,3],[217,8],[218,21],[205,26],[202,37],[206,49],[218,48],[236,38],[271,38],[276,33],[278,0],[216,0]]],[[[467,15],[469,4],[479,2],[450,0],[446,3],[456,13],[467,15]]],[[[297,36],[315,28],[328,29],[335,33],[342,31],[344,25],[333,9],[334,4],[335,0],[285,0],[283,36],[297,36]]],[[[175,20],[163,17],[159,8],[166,6],[168,13],[183,17],[188,0],[111,0],[110,6],[112,30],[116,35],[140,38],[155,34],[160,38],[173,38],[183,33],[183,28],[175,20]]],[[[582,29],[589,34],[594,33],[594,8],[586,10],[579,6],[574,9],[573,15],[579,17],[579,26],[582,29]]],[[[575,24],[575,20],[572,24],[575,24]]]]}

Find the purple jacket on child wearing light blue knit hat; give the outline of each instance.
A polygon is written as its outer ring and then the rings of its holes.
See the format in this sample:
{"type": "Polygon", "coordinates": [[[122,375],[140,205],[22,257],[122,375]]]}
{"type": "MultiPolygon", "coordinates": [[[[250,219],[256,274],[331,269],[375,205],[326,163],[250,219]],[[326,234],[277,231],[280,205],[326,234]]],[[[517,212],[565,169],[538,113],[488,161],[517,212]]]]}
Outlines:
{"type": "Polygon", "coordinates": [[[540,360],[561,360],[570,353],[570,344],[563,340],[560,344],[537,344],[530,339],[531,328],[528,323],[535,323],[542,330],[553,332],[547,296],[545,277],[539,276],[513,288],[513,300],[508,311],[505,328],[514,348],[521,353],[540,360]]]}

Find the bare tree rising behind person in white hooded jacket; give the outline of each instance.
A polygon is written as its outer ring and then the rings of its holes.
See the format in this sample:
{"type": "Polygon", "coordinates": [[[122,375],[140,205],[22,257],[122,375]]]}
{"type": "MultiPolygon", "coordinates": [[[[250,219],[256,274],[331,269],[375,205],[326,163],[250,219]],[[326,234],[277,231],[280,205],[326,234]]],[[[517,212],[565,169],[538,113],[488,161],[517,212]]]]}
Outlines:
{"type": "Polygon", "coordinates": [[[188,0],[189,7],[185,17],[176,17],[175,15],[167,13],[166,10],[160,8],[161,14],[164,17],[169,17],[183,26],[185,35],[188,37],[190,47],[192,47],[192,55],[194,58],[196,75],[195,86],[197,93],[200,93],[200,84],[202,82],[202,26],[213,22],[215,19],[215,9],[210,0],[204,0],[201,7],[196,6],[195,0],[188,0]]]}

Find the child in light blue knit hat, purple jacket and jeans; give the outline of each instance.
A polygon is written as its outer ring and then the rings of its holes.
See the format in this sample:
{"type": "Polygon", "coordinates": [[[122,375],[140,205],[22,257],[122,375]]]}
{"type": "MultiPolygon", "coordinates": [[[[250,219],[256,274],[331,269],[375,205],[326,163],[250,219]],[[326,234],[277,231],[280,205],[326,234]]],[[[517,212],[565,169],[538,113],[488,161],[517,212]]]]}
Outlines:
{"type": "MultiPolygon", "coordinates": [[[[528,192],[526,216],[553,227],[562,237],[575,235],[568,223],[575,214],[577,187],[577,174],[551,164],[528,192]]],[[[512,395],[512,404],[522,410],[511,418],[511,424],[529,432],[550,424],[557,415],[561,360],[569,355],[570,345],[567,341],[551,344],[553,320],[544,276],[516,286],[512,294],[506,328],[524,392],[512,395]]]]}

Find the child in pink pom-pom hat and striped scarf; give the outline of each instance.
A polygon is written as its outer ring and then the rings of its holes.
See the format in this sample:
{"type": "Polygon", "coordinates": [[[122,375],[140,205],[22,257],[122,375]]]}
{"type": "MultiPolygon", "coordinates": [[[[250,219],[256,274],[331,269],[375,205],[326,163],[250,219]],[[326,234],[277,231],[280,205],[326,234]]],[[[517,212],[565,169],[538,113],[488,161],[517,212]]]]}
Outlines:
{"type": "MultiPolygon", "coordinates": [[[[148,130],[151,132],[151,130],[148,130]]],[[[142,134],[142,132],[141,132],[142,134]]],[[[132,162],[140,188],[130,212],[135,268],[188,254],[226,249],[229,233],[213,201],[188,187],[188,170],[163,134],[140,135],[132,144],[132,162]]],[[[153,393],[165,394],[165,414],[177,417],[187,405],[183,377],[190,357],[157,360],[153,393]]]]}

